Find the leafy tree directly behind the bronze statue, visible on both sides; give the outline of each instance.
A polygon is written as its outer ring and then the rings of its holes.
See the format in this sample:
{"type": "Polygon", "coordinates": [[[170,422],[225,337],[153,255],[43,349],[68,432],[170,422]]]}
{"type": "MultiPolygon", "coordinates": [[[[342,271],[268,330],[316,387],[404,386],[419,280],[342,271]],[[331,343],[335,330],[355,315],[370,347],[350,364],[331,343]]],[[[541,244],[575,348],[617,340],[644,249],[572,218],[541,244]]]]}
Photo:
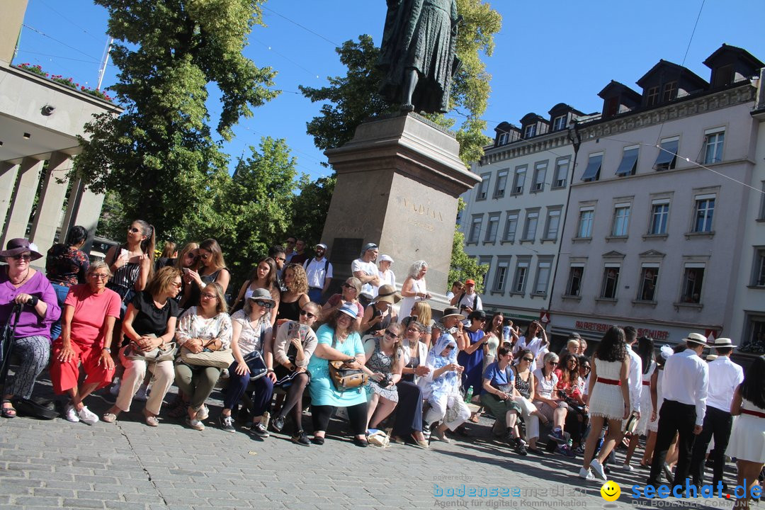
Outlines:
{"type": "MultiPolygon", "coordinates": [[[[451,112],[463,115],[457,128],[460,157],[468,166],[483,155],[483,146],[490,141],[483,130],[491,76],[481,56],[493,52],[493,36],[502,24],[500,14],[482,0],[457,0],[457,11],[464,22],[457,35],[457,56],[462,60],[461,70],[454,76],[451,86],[451,112]]],[[[386,102],[377,93],[382,75],[376,68],[379,48],[369,35],[360,35],[359,41],[346,41],[337,48],[340,62],[348,68],[346,76],[330,77],[330,85],[320,89],[300,86],[304,96],[313,102],[325,102],[321,116],[308,122],[308,134],[314,137],[317,148],[336,148],[353,138],[356,126],[369,116],[396,112],[398,106],[386,102]]],[[[447,128],[454,128],[453,118],[427,115],[429,119],[447,128]]]]}

